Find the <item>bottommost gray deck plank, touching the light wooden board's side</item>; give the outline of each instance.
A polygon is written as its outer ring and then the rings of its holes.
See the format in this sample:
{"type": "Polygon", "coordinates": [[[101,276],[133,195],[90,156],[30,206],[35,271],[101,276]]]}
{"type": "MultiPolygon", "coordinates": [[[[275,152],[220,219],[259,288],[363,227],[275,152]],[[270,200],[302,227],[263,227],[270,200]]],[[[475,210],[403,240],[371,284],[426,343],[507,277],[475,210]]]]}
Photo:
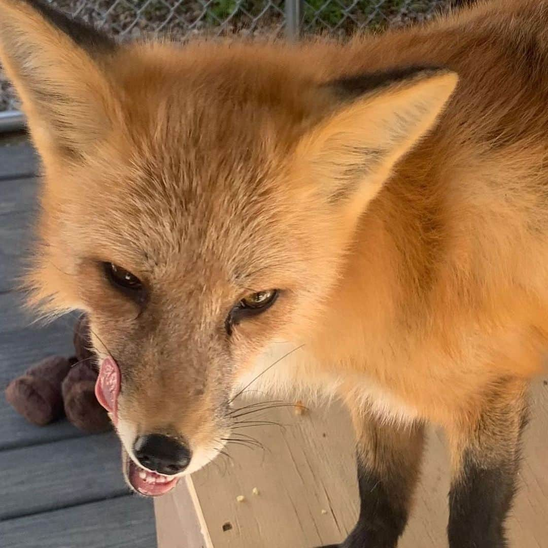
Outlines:
{"type": "Polygon", "coordinates": [[[156,548],[152,502],[127,495],[4,521],[0,523],[0,545],[3,548],[156,548]]]}

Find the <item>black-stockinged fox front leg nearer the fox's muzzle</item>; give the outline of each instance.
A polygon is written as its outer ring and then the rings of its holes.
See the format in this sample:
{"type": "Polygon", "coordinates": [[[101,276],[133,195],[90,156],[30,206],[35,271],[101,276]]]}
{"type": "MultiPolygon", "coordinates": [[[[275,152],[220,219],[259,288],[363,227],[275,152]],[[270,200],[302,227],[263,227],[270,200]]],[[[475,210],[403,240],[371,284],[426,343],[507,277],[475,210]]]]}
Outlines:
{"type": "Polygon", "coordinates": [[[395,548],[407,523],[418,481],[424,426],[395,424],[352,412],[357,435],[360,511],[340,545],[324,548],[395,548]]]}

